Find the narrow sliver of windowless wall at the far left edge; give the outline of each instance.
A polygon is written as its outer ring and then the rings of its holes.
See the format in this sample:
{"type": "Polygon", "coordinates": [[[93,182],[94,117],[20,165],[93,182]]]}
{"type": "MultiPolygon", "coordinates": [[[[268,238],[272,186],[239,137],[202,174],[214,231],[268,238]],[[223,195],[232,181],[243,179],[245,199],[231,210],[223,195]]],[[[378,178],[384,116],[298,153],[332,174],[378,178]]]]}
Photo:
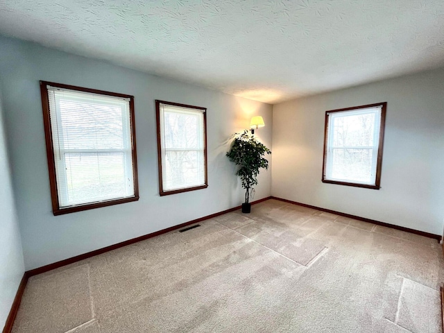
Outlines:
{"type": "Polygon", "coordinates": [[[3,329],[24,273],[22,241],[10,178],[0,95],[0,328],[3,329]]]}

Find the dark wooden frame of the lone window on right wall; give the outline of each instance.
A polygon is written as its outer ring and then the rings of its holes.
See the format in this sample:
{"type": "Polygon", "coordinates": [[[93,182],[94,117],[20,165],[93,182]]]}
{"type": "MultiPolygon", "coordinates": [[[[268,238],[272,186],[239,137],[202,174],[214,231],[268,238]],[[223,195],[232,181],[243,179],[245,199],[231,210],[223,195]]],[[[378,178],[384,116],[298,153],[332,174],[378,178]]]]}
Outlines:
{"type": "Polygon", "coordinates": [[[380,185],[381,185],[381,169],[382,169],[382,150],[383,150],[383,146],[384,146],[384,128],[385,128],[385,122],[386,122],[386,109],[387,109],[387,102],[382,102],[382,103],[353,106],[351,108],[343,108],[343,109],[325,111],[322,182],[325,182],[328,184],[345,185],[345,186],[352,186],[352,187],[363,187],[366,189],[380,189],[381,188],[380,185]],[[361,184],[361,183],[357,183],[357,182],[344,182],[344,181],[326,179],[325,176],[327,173],[327,154],[328,154],[328,148],[329,148],[328,135],[329,135],[330,114],[336,113],[336,112],[346,112],[346,111],[352,111],[352,110],[365,109],[365,108],[374,108],[377,106],[381,106],[381,119],[379,122],[379,140],[378,140],[378,148],[377,148],[375,185],[367,185],[367,184],[361,184]]]}

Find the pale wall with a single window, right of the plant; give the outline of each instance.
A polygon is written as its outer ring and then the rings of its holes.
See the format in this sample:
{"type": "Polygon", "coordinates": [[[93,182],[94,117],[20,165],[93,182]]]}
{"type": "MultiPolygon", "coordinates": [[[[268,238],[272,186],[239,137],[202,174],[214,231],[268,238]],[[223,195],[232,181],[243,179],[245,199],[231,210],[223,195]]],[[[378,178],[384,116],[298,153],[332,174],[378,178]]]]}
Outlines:
{"type": "Polygon", "coordinates": [[[273,196],[442,234],[444,69],[273,107],[273,196]],[[325,111],[388,102],[381,189],[321,182],[325,111]]]}

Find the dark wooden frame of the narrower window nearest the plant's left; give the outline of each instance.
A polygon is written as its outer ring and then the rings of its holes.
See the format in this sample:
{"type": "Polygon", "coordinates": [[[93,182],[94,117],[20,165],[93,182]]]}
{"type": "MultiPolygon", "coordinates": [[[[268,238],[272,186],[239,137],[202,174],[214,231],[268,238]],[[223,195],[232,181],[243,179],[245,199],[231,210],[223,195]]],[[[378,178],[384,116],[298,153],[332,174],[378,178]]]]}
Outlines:
{"type": "Polygon", "coordinates": [[[167,101],[155,100],[155,110],[156,110],[156,122],[157,122],[157,168],[159,171],[159,195],[168,196],[170,194],[178,194],[188,191],[196,191],[198,189],[206,189],[208,187],[208,163],[207,163],[207,108],[202,108],[200,106],[187,105],[182,103],[173,103],[167,101]],[[195,187],[186,187],[182,189],[172,189],[169,191],[164,191],[163,189],[163,177],[162,177],[162,143],[160,137],[160,104],[178,106],[180,108],[189,108],[196,110],[203,110],[203,161],[205,163],[205,184],[198,185],[195,187]]]}

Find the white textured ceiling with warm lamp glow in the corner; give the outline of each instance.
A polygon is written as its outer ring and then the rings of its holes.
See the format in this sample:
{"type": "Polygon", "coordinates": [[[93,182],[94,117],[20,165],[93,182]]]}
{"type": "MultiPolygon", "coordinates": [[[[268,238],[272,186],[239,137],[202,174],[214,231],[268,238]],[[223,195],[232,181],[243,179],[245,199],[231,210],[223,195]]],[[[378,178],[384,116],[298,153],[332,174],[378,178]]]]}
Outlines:
{"type": "Polygon", "coordinates": [[[444,66],[444,1],[0,0],[0,34],[277,103],[444,66]]]}

